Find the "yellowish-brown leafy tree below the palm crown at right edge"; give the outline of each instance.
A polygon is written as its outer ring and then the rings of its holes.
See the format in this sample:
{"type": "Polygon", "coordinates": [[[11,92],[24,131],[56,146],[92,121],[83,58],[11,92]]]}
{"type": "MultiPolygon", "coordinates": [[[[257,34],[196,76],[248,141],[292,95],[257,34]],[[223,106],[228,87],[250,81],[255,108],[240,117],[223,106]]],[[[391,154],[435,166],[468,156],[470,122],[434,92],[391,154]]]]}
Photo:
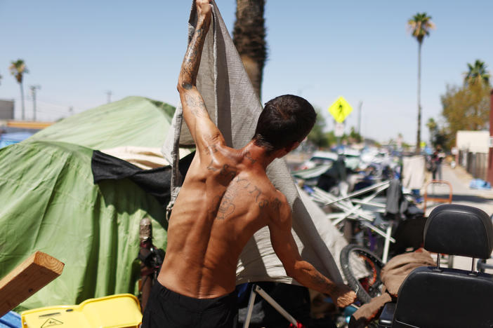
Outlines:
{"type": "Polygon", "coordinates": [[[489,85],[486,83],[447,86],[441,97],[442,116],[446,121],[447,148],[454,146],[459,130],[489,128],[489,85]]]}

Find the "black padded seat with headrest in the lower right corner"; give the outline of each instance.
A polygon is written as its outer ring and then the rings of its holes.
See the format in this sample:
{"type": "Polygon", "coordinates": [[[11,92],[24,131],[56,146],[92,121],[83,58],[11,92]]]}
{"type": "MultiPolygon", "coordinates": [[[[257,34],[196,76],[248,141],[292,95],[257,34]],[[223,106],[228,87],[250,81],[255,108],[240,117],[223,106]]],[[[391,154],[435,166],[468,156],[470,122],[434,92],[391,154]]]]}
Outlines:
{"type": "Polygon", "coordinates": [[[438,253],[437,266],[416,268],[402,283],[397,303],[387,303],[379,327],[493,327],[493,276],[474,271],[489,259],[493,224],[475,207],[440,205],[424,228],[424,248],[438,253]],[[440,254],[472,257],[471,271],[440,268],[440,254]]]}

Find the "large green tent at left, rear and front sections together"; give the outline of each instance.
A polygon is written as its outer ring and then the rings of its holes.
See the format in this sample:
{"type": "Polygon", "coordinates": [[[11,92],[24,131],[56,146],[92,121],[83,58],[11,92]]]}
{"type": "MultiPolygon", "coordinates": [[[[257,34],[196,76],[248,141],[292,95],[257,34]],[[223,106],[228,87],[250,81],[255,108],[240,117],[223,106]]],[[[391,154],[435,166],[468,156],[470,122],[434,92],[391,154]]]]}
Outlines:
{"type": "Polygon", "coordinates": [[[129,179],[93,184],[93,149],[160,146],[173,107],[127,97],[0,149],[0,278],[40,250],[63,261],[59,278],[17,310],[137,294],[139,223],[166,245],[162,206],[129,179]]]}

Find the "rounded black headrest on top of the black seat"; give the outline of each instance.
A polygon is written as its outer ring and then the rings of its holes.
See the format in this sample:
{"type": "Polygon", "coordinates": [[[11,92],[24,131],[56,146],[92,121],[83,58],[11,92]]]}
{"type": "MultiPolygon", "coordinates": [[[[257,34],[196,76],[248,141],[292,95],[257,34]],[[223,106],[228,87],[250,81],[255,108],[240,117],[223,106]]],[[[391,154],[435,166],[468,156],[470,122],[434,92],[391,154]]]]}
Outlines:
{"type": "Polygon", "coordinates": [[[440,205],[426,220],[424,247],[435,253],[488,259],[493,250],[492,220],[475,207],[440,205]]]}

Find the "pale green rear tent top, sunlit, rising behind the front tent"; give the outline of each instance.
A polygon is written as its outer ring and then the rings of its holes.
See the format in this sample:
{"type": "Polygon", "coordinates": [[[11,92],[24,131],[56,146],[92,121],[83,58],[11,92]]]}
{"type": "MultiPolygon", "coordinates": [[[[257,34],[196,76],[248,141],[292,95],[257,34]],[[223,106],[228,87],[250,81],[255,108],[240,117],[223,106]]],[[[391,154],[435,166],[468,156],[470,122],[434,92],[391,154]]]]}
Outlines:
{"type": "Polygon", "coordinates": [[[174,110],[163,102],[126,97],[65,118],[27,141],[68,142],[98,150],[120,146],[161,148],[174,110]]]}

